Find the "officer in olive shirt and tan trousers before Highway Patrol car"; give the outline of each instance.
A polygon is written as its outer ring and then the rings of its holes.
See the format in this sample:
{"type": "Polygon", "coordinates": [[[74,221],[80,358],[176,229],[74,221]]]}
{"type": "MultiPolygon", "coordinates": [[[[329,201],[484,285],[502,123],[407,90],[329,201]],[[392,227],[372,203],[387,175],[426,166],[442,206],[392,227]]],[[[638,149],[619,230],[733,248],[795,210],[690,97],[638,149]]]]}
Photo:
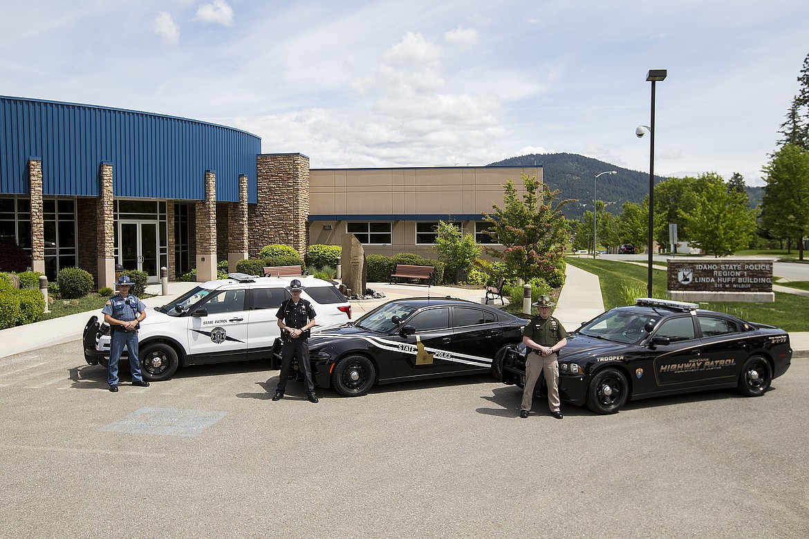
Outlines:
{"type": "Polygon", "coordinates": [[[548,385],[548,406],[551,415],[561,419],[559,411],[559,357],[557,352],[567,344],[567,331],[561,322],[551,316],[551,307],[556,305],[549,296],[540,296],[532,304],[539,311],[539,316],[523,330],[523,343],[528,347],[528,356],[525,360],[525,388],[523,389],[523,402],[520,406],[519,416],[527,418],[531,411],[536,381],[540,373],[545,373],[545,382],[548,385]]]}

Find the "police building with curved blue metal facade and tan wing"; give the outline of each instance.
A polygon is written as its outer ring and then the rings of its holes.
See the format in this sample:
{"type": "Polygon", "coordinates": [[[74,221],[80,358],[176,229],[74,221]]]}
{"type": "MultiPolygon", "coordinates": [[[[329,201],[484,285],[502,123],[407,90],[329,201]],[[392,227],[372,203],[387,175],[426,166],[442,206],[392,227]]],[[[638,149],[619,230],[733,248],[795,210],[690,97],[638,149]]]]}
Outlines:
{"type": "Polygon", "coordinates": [[[438,221],[490,241],[482,213],[534,167],[310,169],[303,154],[262,154],[239,129],[117,108],[0,96],[0,238],[49,280],[61,267],[112,286],[116,264],[197,280],[282,243],[434,256],[438,221]]]}

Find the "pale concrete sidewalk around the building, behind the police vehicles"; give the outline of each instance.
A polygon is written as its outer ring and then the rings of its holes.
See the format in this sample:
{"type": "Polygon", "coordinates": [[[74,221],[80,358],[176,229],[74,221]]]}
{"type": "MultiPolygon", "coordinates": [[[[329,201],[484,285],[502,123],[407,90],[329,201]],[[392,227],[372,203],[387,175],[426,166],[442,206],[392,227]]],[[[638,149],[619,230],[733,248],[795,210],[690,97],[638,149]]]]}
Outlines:
{"type": "MultiPolygon", "coordinates": [[[[196,285],[197,283],[169,283],[166,296],[149,297],[143,302],[149,307],[165,305],[196,285]]],[[[482,303],[485,297],[485,290],[480,289],[427,286],[426,284],[368,283],[367,286],[377,292],[384,293],[386,297],[377,300],[351,301],[352,318],[354,319],[386,301],[400,297],[451,296],[476,303],[482,303]]],[[[161,292],[160,284],[150,284],[146,287],[146,292],[159,294],[161,292]]],[[[598,276],[569,264],[567,266],[565,287],[561,290],[558,305],[556,310],[553,311],[553,315],[559,319],[567,331],[574,331],[582,322],[586,322],[603,312],[604,302],[601,298],[598,276]]],[[[80,340],[87,320],[91,315],[100,315],[100,313],[101,311],[98,310],[71,314],[70,316],[2,330],[0,331],[0,358],[80,340]]],[[[790,343],[794,351],[793,357],[809,357],[809,332],[790,333],[790,343]]]]}

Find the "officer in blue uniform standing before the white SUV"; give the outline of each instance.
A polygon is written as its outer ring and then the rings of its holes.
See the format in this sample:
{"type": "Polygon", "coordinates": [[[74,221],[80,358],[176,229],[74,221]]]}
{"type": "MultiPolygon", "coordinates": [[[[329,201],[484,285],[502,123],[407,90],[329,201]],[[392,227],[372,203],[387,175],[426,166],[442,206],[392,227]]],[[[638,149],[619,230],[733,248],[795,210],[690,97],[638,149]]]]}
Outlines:
{"type": "Polygon", "coordinates": [[[141,362],[138,359],[138,323],[146,318],[146,305],[137,297],[129,293],[132,281],[129,276],[118,277],[118,293],[112,296],[101,310],[104,313],[104,322],[109,324],[112,331],[109,346],[109,365],[107,368],[107,383],[109,390],[115,393],[118,390],[118,360],[124,347],[129,350],[129,370],[132,373],[132,385],[148,387],[149,382],[144,381],[141,374],[141,362]]]}

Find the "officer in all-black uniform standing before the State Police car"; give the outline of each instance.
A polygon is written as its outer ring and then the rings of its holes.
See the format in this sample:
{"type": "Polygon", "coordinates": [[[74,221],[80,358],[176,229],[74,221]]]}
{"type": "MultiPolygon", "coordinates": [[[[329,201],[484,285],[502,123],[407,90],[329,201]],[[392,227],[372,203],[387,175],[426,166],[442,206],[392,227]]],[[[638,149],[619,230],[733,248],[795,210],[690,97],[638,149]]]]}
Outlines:
{"type": "Polygon", "coordinates": [[[273,401],[284,397],[286,390],[286,377],[290,374],[292,356],[297,352],[299,368],[303,369],[306,377],[306,392],[309,402],[317,402],[315,396],[315,382],[311,377],[311,364],[309,363],[309,330],[315,326],[315,310],[311,303],[301,297],[303,285],[297,279],[292,280],[286,287],[292,297],[281,304],[275,317],[278,327],[281,328],[281,338],[284,344],[281,348],[281,377],[273,395],[273,401]]]}

